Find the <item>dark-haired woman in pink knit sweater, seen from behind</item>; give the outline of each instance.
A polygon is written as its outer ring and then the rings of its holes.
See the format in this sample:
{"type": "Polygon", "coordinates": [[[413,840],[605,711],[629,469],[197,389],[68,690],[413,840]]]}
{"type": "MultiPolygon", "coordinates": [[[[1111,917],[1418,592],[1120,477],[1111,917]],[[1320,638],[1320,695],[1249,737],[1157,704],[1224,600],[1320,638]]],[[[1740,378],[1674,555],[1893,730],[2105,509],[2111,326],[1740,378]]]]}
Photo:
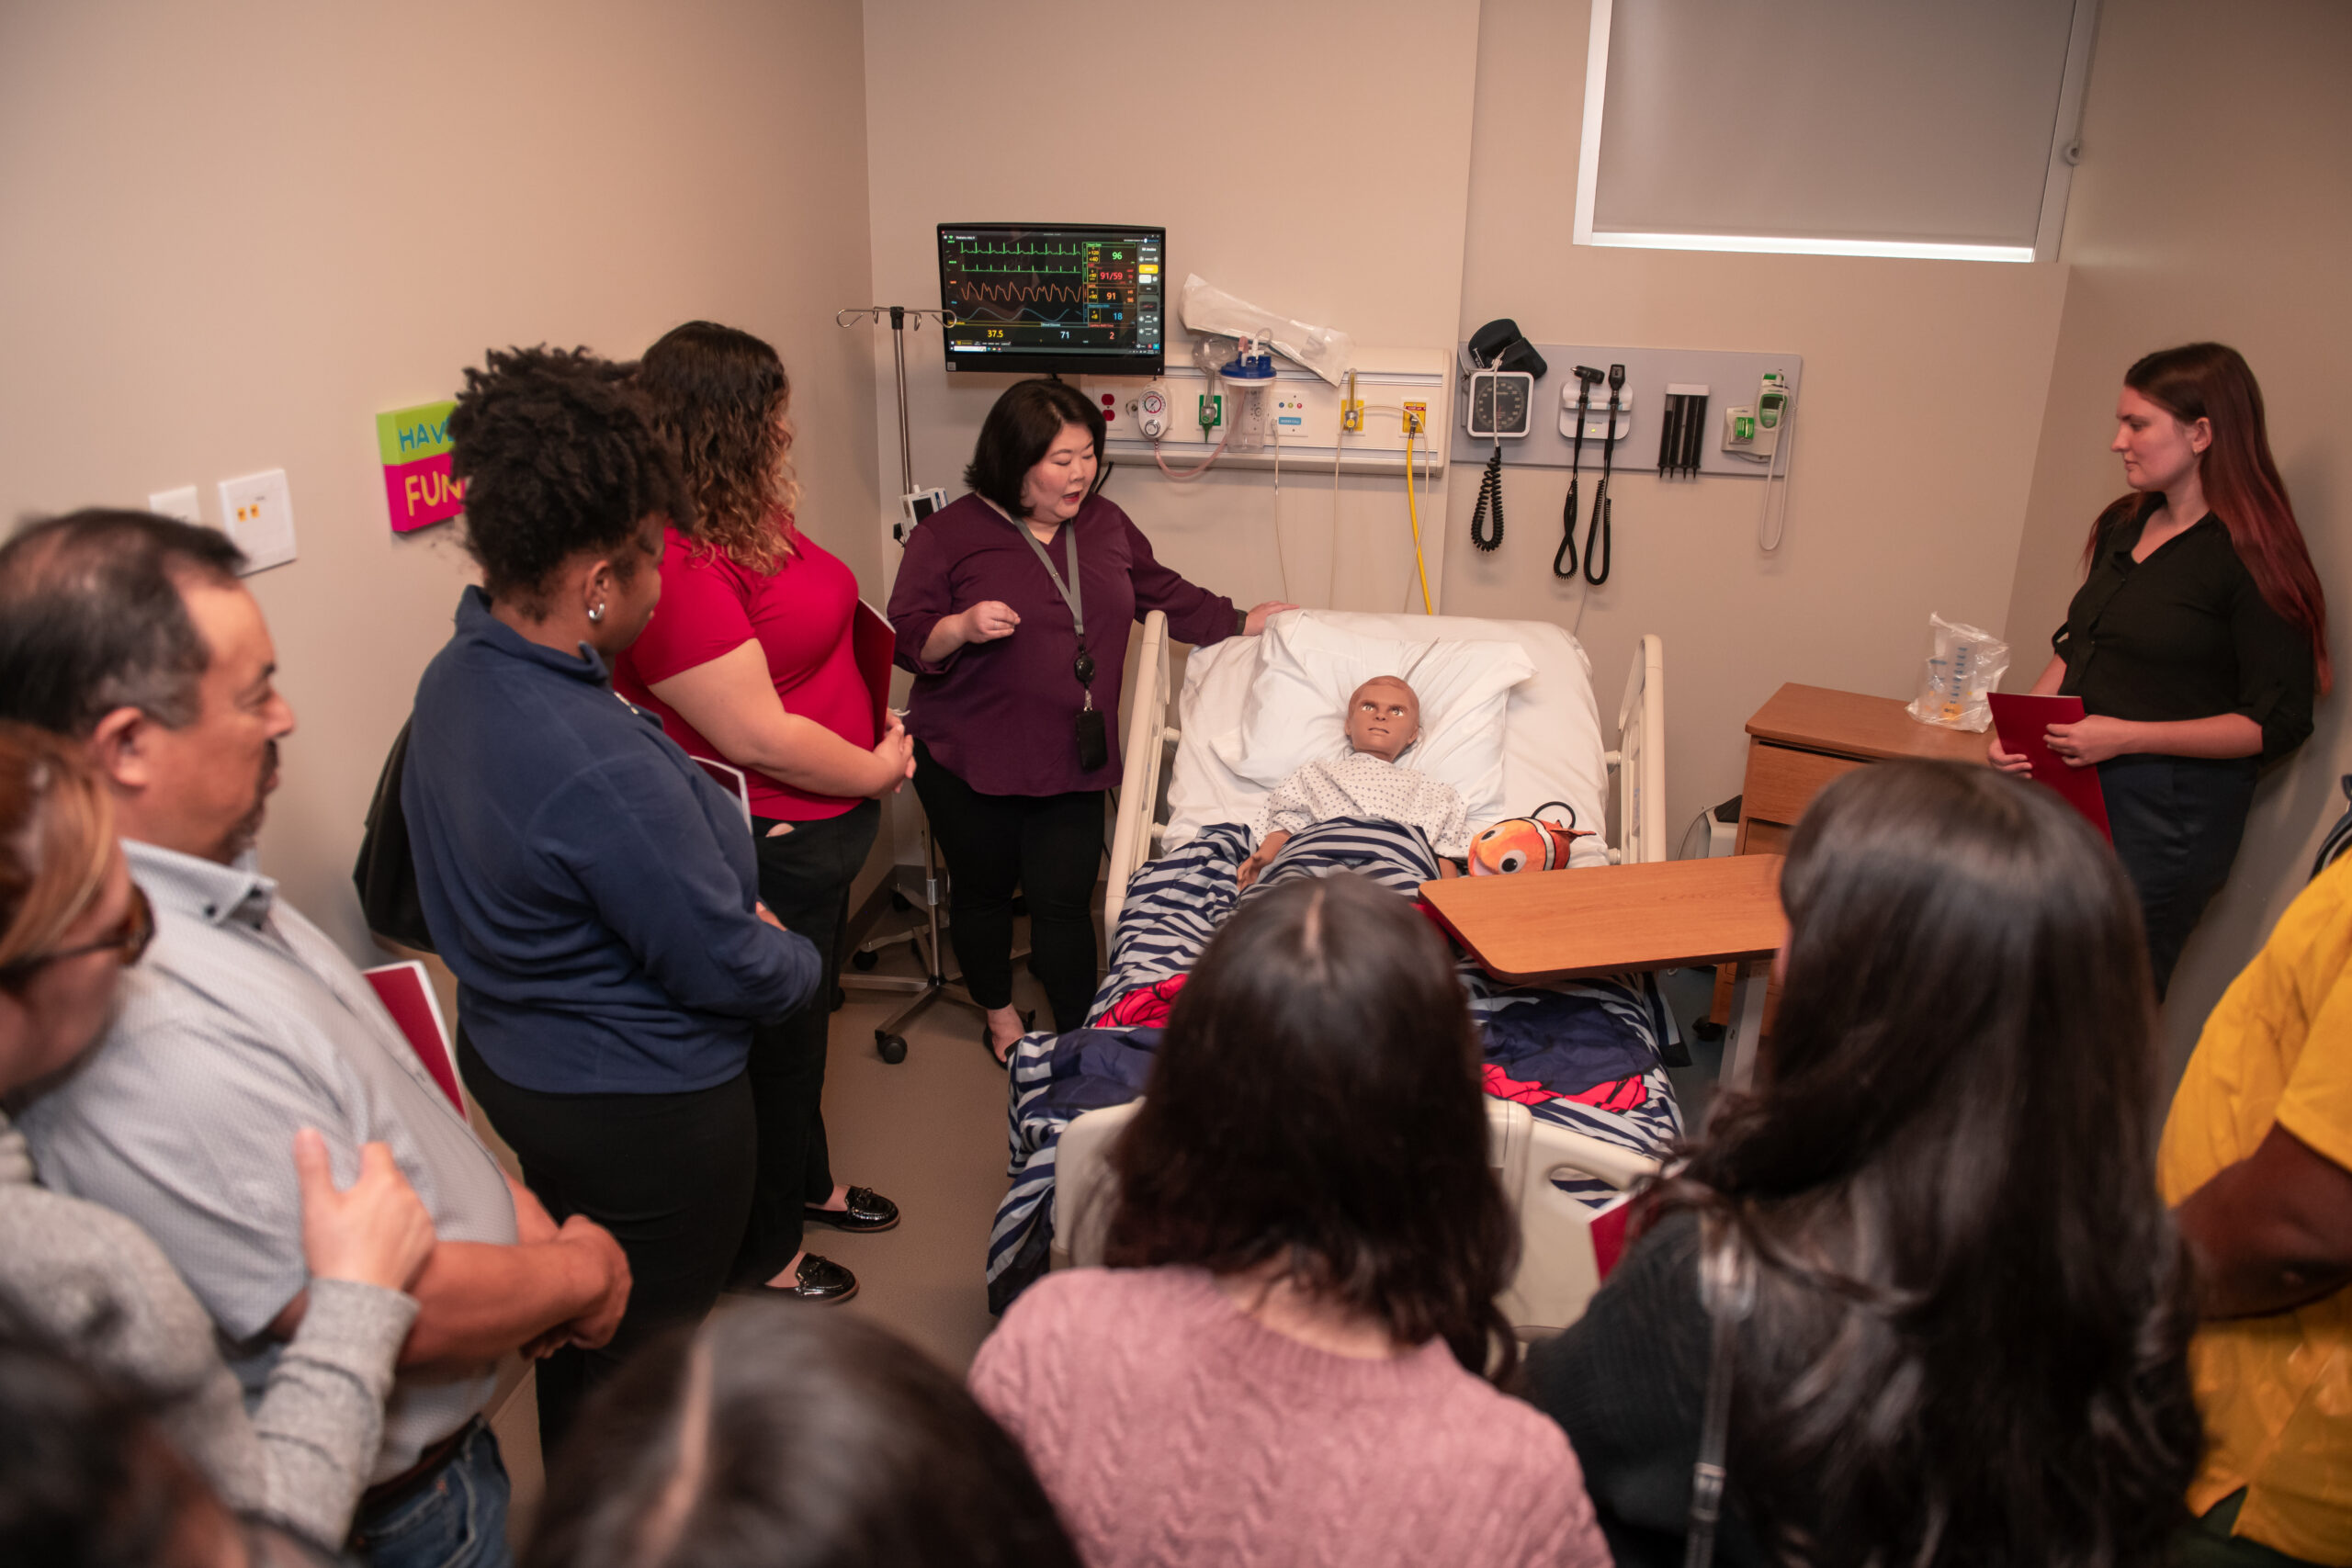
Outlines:
{"type": "Polygon", "coordinates": [[[1108,1269],[1030,1286],[971,1392],[1091,1568],[1609,1561],[1486,1380],[1519,1253],[1444,943],[1359,877],[1240,907],[1110,1150],[1108,1269]]]}

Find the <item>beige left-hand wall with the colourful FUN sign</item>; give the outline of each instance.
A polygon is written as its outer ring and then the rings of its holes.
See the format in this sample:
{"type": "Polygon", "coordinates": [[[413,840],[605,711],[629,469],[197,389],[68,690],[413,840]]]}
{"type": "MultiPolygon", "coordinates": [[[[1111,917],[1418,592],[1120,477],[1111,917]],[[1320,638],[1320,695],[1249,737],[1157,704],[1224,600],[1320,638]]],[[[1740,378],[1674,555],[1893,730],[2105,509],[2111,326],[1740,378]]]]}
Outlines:
{"type": "Polygon", "coordinates": [[[393,538],[379,409],[485,346],[771,339],[804,524],[880,588],[854,0],[0,9],[0,517],[285,468],[252,578],[301,715],[263,865],[355,954],[360,818],[468,564],[393,538]]]}

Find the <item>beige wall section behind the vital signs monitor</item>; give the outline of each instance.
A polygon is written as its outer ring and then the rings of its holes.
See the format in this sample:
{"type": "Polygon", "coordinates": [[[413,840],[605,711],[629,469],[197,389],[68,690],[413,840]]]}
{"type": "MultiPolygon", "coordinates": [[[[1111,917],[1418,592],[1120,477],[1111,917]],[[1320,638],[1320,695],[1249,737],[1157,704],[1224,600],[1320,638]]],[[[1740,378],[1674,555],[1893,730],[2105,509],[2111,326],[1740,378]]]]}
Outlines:
{"type": "MultiPolygon", "coordinates": [[[[985,12],[868,0],[873,299],[938,306],[941,221],[1164,223],[1178,284],[1200,273],[1359,346],[1446,350],[1475,68],[1477,0],[1004,0],[985,12]]],[[[1169,315],[1183,341],[1174,299],[1169,315]]],[[[877,421],[896,515],[884,336],[877,421]]],[[[1011,378],[948,376],[943,357],[931,329],[908,339],[915,480],[957,496],[981,418],[1011,378]]],[[[1338,602],[1402,609],[1404,487],[1350,475],[1341,489],[1338,602]]],[[[1105,494],[1162,562],[1216,592],[1327,602],[1329,468],[1319,480],[1284,468],[1287,595],[1268,473],[1171,484],[1150,463],[1122,461],[1105,494]]],[[[884,548],[894,559],[896,545],[884,548]]]]}

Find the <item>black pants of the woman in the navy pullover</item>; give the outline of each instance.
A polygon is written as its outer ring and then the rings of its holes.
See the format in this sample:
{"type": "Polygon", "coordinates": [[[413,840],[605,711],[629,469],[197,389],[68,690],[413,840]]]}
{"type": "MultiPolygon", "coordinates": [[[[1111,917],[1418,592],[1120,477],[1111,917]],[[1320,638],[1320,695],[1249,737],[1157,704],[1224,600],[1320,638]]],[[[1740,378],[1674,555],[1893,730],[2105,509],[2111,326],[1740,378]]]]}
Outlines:
{"type": "Polygon", "coordinates": [[[539,1363],[539,1441],[553,1455],[593,1385],[717,1302],[750,1211],[750,1077],[691,1093],[539,1093],[492,1072],[463,1023],[456,1060],[555,1222],[583,1213],[628,1253],[628,1312],[612,1342],[539,1363]]]}

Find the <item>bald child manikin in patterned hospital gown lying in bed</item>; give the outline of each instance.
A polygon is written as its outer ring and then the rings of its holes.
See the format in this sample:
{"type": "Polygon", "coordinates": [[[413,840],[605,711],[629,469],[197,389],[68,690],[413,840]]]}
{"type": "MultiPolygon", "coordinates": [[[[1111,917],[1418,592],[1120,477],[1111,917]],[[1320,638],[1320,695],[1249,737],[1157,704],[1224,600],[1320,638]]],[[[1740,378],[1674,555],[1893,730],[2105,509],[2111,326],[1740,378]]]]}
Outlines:
{"type": "Polygon", "coordinates": [[[1242,860],[1240,884],[1258,879],[1291,835],[1334,816],[1369,816],[1418,827],[1439,856],[1439,875],[1454,875],[1451,860],[1470,851],[1470,820],[1461,792],[1397,766],[1421,738],[1421,698],[1395,675],[1376,675],[1348,698],[1348,755],[1338,762],[1310,762],[1284,778],[1258,820],[1251,823],[1258,846],[1242,860]]]}

